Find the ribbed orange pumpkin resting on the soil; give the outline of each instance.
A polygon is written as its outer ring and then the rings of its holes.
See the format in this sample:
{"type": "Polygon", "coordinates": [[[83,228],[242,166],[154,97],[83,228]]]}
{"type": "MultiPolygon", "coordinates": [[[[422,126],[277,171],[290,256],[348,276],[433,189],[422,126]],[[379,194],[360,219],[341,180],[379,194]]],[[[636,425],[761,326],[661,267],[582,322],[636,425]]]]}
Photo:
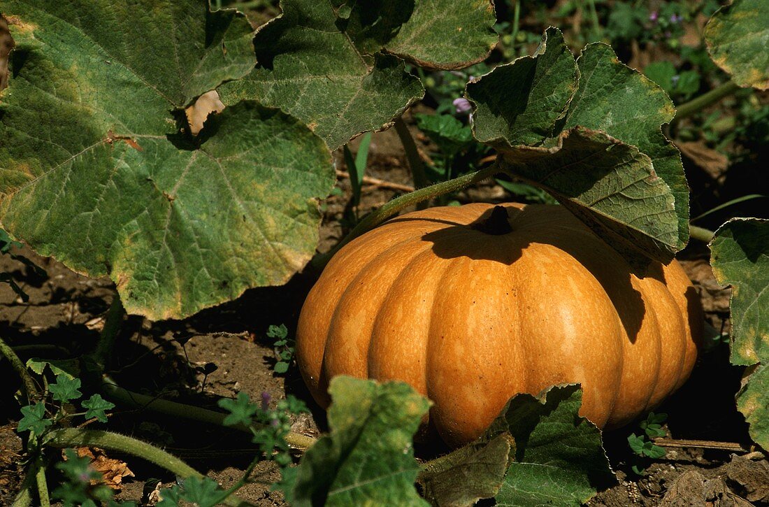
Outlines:
{"type": "Polygon", "coordinates": [[[395,218],[342,248],[298,323],[299,369],[328,405],[335,375],[408,382],[449,445],[478,437],[511,396],[580,382],[599,427],[653,409],[689,376],[699,298],[681,266],[644,279],[561,206],[492,205],[395,218]]]}

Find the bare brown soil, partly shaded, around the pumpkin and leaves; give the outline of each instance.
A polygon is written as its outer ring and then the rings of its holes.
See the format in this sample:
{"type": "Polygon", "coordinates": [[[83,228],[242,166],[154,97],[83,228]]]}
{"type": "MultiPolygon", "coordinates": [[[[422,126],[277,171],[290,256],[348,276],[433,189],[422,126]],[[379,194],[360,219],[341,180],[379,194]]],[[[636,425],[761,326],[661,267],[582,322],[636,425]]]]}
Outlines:
{"type": "MultiPolygon", "coordinates": [[[[418,132],[414,135],[419,137],[418,132]]],[[[371,145],[368,175],[388,182],[409,185],[411,176],[401,155],[402,148],[392,131],[375,135],[371,145]]],[[[343,168],[341,162],[338,167],[343,168]]],[[[348,181],[340,179],[341,194],[325,202],[321,228],[321,251],[328,250],[345,232],[340,218],[348,203],[348,181]]],[[[387,202],[397,191],[366,185],[360,212],[387,202]]],[[[464,192],[461,201],[499,201],[509,198],[491,183],[464,192]]],[[[3,256],[0,269],[12,272],[30,295],[22,302],[0,285],[0,332],[23,359],[46,356],[63,359],[87,351],[103,325],[103,315],[114,294],[108,279],[87,279],[70,272],[52,259],[25,252],[48,273],[35,275],[24,265],[3,256]]],[[[728,330],[729,291],[721,289],[707,265],[707,248],[693,243],[681,259],[707,313],[711,333],[728,330]]],[[[291,393],[312,401],[295,369],[275,375],[275,362],[265,332],[271,324],[285,324],[293,332],[301,303],[315,275],[301,273],[287,285],[252,289],[235,302],[208,309],[181,322],[151,323],[129,317],[118,342],[112,375],[128,389],[180,402],[215,409],[218,396],[245,391],[258,399],[268,392],[275,400],[291,393]],[[202,375],[196,366],[213,363],[214,372],[202,375]]],[[[630,432],[638,427],[607,432],[604,437],[618,484],[601,492],[589,505],[769,505],[769,464],[751,449],[747,427],[734,408],[734,393],[740,385],[741,369],[728,364],[726,343],[711,346],[691,379],[657,412],[669,414],[667,433],[672,439],[731,442],[744,450],[670,448],[664,459],[641,463],[645,475],[632,472],[638,465],[628,448],[630,432]]],[[[0,505],[10,505],[18,490],[22,472],[22,442],[14,429],[18,405],[13,393],[18,379],[6,367],[0,368],[0,505]]],[[[246,435],[193,422],[168,419],[147,411],[117,407],[110,426],[118,432],[155,442],[169,452],[208,473],[225,487],[241,477],[254,452],[246,435]]],[[[323,413],[313,407],[312,416],[302,416],[294,431],[318,435],[325,429],[323,413]]],[[[52,456],[55,457],[55,456],[52,456]]],[[[110,455],[124,460],[133,472],[125,477],[118,499],[139,501],[145,481],[161,480],[163,487],[175,478],[153,465],[128,455],[110,455]]],[[[55,482],[55,473],[50,478],[55,482]]],[[[279,479],[277,469],[264,462],[255,470],[253,482],[240,497],[255,505],[284,505],[282,495],[271,491],[279,479]]]]}

